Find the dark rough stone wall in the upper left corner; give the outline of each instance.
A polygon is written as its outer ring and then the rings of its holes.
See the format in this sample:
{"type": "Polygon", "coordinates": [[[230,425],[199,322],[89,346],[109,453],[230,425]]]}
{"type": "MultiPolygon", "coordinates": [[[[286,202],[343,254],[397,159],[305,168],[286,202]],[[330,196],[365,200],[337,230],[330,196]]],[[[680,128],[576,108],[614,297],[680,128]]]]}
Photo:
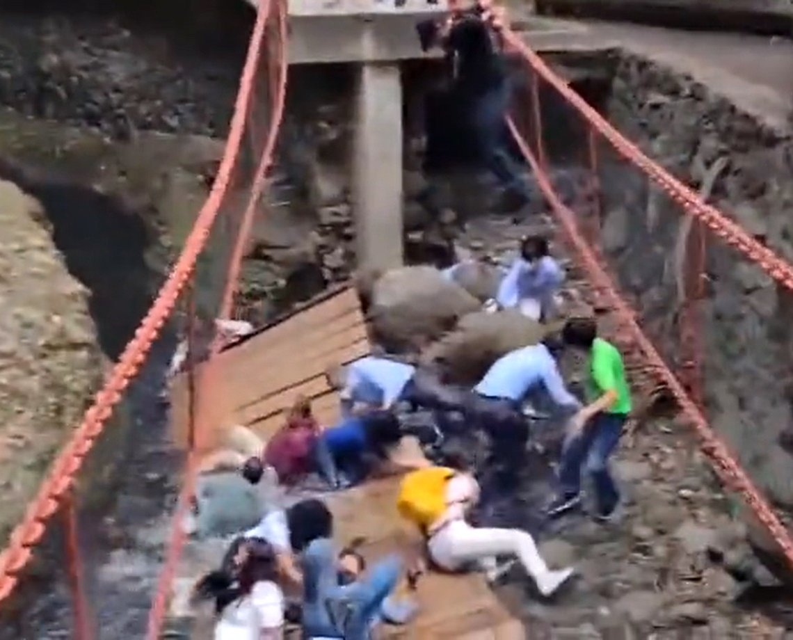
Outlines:
{"type": "Polygon", "coordinates": [[[0,105],[113,138],[136,130],[224,136],[244,22],[236,40],[202,47],[205,36],[184,21],[180,37],[123,15],[61,11],[0,16],[0,105]]]}

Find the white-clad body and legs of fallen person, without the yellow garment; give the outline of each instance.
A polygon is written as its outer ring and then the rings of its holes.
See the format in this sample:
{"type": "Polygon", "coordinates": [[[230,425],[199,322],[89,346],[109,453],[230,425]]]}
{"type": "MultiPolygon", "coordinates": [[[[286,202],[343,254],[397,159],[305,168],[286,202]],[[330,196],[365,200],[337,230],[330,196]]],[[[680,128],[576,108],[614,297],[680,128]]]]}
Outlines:
{"type": "MultiPolygon", "coordinates": [[[[454,463],[453,467],[462,465],[454,463]]],[[[441,569],[459,571],[471,563],[494,581],[511,563],[499,566],[497,556],[511,556],[526,570],[542,596],[551,596],[571,576],[573,569],[549,569],[527,531],[495,527],[472,527],[465,515],[479,500],[474,477],[460,470],[446,484],[446,512],[427,531],[429,556],[441,569]]]]}

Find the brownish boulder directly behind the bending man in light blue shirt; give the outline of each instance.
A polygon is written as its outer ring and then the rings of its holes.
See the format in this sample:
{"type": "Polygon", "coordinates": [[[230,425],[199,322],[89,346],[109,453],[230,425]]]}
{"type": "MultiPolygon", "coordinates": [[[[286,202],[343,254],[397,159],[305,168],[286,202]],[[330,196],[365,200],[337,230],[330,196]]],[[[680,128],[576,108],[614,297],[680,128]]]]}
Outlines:
{"type": "Polygon", "coordinates": [[[460,320],[454,331],[421,354],[425,366],[439,366],[447,382],[475,385],[493,362],[519,347],[537,344],[551,331],[514,309],[479,311],[460,320]]]}

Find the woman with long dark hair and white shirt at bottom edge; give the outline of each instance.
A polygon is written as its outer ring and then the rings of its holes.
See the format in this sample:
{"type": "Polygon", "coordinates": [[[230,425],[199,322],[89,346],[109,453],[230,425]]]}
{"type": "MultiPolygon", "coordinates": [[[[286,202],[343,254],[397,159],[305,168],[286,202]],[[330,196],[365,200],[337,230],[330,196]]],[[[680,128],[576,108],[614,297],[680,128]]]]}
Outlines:
{"type": "Polygon", "coordinates": [[[236,571],[207,574],[193,602],[214,600],[215,640],[281,640],[284,594],[272,546],[251,538],[237,551],[236,571]]]}

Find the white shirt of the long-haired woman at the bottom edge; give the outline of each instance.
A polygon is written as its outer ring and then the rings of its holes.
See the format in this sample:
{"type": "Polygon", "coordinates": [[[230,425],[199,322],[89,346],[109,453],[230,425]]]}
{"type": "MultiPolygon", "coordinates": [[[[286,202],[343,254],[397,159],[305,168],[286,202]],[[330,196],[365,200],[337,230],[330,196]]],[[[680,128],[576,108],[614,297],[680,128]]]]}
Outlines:
{"type": "Polygon", "coordinates": [[[215,640],[259,640],[262,629],[284,624],[284,593],[278,584],[257,582],[251,592],[228,604],[215,625],[215,640]]]}

